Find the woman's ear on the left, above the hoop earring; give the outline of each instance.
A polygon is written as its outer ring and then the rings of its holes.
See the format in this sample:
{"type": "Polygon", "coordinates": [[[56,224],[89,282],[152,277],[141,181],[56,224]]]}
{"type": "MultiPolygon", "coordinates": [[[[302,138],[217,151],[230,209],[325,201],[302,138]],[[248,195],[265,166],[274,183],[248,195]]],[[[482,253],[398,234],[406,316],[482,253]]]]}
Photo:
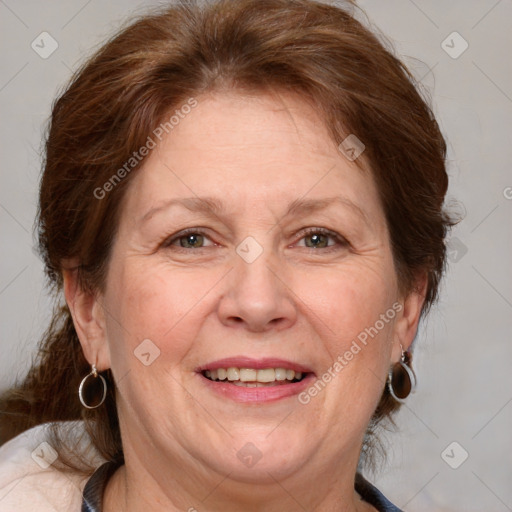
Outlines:
{"type": "Polygon", "coordinates": [[[63,278],[64,295],[85,358],[89,364],[95,364],[98,371],[106,370],[110,368],[110,354],[101,296],[82,289],[76,267],[63,270],[63,278]]]}

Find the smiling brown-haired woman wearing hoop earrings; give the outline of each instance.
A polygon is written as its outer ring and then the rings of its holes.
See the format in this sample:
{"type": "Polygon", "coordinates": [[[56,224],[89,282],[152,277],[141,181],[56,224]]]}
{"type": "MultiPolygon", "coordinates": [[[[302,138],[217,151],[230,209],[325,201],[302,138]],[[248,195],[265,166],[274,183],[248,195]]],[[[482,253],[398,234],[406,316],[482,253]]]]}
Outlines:
{"type": "Polygon", "coordinates": [[[2,399],[0,510],[398,510],[358,468],[414,387],[444,157],[340,8],[125,28],[53,109],[38,221],[65,303],[2,399]]]}

